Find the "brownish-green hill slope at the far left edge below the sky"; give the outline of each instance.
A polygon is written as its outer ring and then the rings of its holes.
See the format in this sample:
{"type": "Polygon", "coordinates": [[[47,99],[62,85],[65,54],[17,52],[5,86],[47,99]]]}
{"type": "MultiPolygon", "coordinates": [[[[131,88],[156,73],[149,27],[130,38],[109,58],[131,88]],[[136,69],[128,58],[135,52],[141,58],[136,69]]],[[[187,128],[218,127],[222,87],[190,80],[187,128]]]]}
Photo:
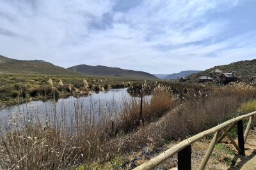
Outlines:
{"type": "Polygon", "coordinates": [[[42,60],[15,60],[0,55],[0,72],[17,74],[79,75],[42,60]]]}

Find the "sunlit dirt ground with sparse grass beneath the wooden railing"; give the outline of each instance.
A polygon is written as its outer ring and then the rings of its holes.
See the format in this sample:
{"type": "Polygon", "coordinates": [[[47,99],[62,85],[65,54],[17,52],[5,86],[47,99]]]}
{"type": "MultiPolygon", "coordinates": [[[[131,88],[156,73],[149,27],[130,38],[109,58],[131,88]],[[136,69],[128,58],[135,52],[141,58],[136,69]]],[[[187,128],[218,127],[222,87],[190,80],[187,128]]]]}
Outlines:
{"type": "MultiPolygon", "coordinates": [[[[234,139],[237,143],[237,138],[234,139]]],[[[129,166],[128,169],[132,169],[143,162],[146,162],[148,159],[158,155],[164,150],[171,148],[175,144],[179,143],[179,141],[169,143],[165,145],[163,148],[158,148],[160,152],[148,151],[139,153],[137,157],[131,160],[132,166],[129,166]],[[147,155],[147,157],[145,157],[147,155]],[[134,166],[136,165],[136,166],[134,166]]],[[[203,159],[205,152],[209,144],[211,143],[211,139],[202,139],[192,145],[192,169],[197,169],[200,165],[201,160],[203,159]]],[[[218,143],[212,152],[212,155],[207,162],[207,166],[205,169],[216,169],[216,170],[236,170],[236,169],[244,169],[244,170],[255,170],[256,169],[256,127],[250,130],[248,135],[245,148],[245,156],[239,155],[236,148],[230,143],[229,139],[226,137],[220,143],[218,143]]],[[[160,169],[177,169],[177,154],[166,160],[163,164],[156,167],[155,170],[160,169]]]]}

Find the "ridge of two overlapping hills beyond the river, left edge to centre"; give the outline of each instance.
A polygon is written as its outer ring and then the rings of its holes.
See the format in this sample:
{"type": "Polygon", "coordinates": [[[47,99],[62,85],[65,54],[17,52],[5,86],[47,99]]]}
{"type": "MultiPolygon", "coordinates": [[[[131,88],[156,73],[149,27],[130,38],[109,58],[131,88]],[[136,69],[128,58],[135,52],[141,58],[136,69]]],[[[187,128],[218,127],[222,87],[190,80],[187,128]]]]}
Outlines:
{"type": "Polygon", "coordinates": [[[17,74],[52,74],[63,76],[113,76],[135,79],[158,79],[143,71],[121,69],[118,67],[78,65],[67,69],[55,66],[45,60],[16,60],[0,55],[0,72],[17,74]]]}

